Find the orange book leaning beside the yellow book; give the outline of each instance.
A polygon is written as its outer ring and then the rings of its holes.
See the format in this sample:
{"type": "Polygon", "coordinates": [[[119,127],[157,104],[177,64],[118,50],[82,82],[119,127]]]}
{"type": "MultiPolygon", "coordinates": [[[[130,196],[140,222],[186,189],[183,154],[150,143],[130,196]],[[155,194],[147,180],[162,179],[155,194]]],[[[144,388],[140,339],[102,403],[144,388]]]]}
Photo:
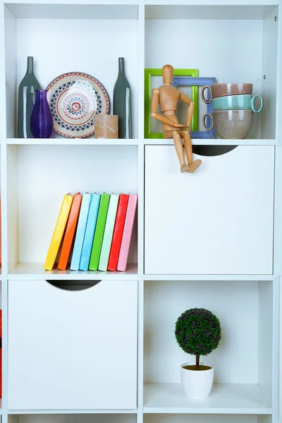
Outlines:
{"type": "Polygon", "coordinates": [[[68,257],[70,257],[71,247],[73,246],[73,240],[75,239],[75,229],[78,225],[81,201],[82,195],[76,193],[73,196],[73,204],[71,205],[71,212],[68,216],[68,223],[66,224],[66,233],[63,238],[63,245],[58,264],[58,269],[60,270],[66,270],[66,267],[68,266],[68,257]]]}

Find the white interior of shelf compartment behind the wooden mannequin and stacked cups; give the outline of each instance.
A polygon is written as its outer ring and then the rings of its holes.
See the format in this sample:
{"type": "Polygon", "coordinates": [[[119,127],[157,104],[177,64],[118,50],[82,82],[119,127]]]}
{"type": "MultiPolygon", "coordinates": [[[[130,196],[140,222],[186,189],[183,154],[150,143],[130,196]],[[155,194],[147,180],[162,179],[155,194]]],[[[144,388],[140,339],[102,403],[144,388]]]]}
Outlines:
{"type": "MultiPolygon", "coordinates": [[[[276,92],[278,58],[278,6],[277,1],[255,4],[218,1],[211,6],[201,6],[196,1],[190,5],[168,5],[164,1],[154,1],[145,5],[145,68],[162,68],[166,63],[174,68],[187,68],[186,56],[167,54],[187,49],[186,40],[191,39],[189,56],[190,68],[197,68],[200,77],[216,78],[216,82],[252,82],[253,94],[262,94],[264,109],[255,114],[248,140],[276,139],[276,92]],[[193,4],[194,3],[194,4],[193,4]],[[232,4],[233,3],[233,4],[232,4]],[[199,30],[204,28],[204,30],[199,30]],[[236,37],[233,37],[233,34],[236,37]],[[173,37],[168,37],[173,34],[173,37]],[[212,34],[212,37],[207,37],[212,34]],[[192,37],[192,38],[191,38],[192,37]],[[159,45],[166,39],[166,49],[159,45]],[[231,46],[231,48],[229,48],[231,46]],[[202,54],[205,51],[205,54],[202,54]],[[221,66],[224,63],[224,66],[221,66]],[[238,63],[248,63],[239,66],[238,63]]],[[[151,78],[151,90],[163,84],[161,76],[151,78]]],[[[199,91],[202,87],[199,87],[199,91]]],[[[191,87],[179,90],[190,97],[191,87]]],[[[187,106],[178,102],[177,116],[185,123],[187,106]]],[[[198,130],[204,130],[202,116],[207,105],[199,94],[198,130]]],[[[161,134],[161,123],[149,116],[152,133],[161,134]]]]}

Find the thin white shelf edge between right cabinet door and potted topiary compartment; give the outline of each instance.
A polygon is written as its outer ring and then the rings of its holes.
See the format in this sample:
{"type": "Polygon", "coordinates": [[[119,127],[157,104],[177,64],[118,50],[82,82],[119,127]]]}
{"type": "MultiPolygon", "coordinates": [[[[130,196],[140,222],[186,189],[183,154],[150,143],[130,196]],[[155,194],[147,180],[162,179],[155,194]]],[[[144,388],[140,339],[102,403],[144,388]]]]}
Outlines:
{"type": "Polygon", "coordinates": [[[144,281],[273,281],[274,275],[162,275],[145,274],[144,281]]]}

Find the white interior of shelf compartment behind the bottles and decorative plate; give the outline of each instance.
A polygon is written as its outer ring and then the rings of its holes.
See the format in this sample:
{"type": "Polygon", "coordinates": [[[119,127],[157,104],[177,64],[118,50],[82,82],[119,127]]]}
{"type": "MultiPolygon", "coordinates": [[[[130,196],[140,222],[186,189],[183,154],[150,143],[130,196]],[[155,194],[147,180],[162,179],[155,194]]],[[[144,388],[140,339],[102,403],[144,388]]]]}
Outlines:
{"type": "MultiPolygon", "coordinates": [[[[118,76],[118,57],[124,57],[125,73],[132,92],[133,139],[136,139],[139,25],[137,13],[137,4],[126,4],[126,2],[121,5],[109,3],[84,6],[64,1],[62,4],[56,1],[52,4],[40,4],[40,2],[30,4],[29,1],[7,4],[5,7],[6,137],[17,136],[16,99],[18,86],[26,72],[27,56],[34,57],[35,76],[42,89],[64,73],[83,72],[97,78],[109,96],[110,113],[112,113],[114,84],[118,76]],[[80,33],[80,37],[73,36],[74,27],[75,32],[80,33]],[[54,49],[53,46],[58,39],[71,40],[72,51],[78,53],[62,54],[61,48],[54,49]],[[45,49],[42,49],[43,44],[45,49]],[[97,52],[97,59],[94,61],[91,54],[93,48],[97,52]]],[[[54,137],[59,138],[60,135],[54,133],[54,137]]]]}

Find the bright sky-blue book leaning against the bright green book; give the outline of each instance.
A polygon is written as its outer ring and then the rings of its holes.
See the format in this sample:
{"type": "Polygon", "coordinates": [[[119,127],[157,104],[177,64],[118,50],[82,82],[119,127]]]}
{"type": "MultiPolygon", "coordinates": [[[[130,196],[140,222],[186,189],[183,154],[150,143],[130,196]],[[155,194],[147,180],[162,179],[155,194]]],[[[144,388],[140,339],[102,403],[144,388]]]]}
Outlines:
{"type": "Polygon", "coordinates": [[[80,270],[85,270],[85,271],[88,270],[90,255],[92,251],[94,232],[95,232],[96,223],[97,223],[97,216],[99,212],[100,198],[101,198],[101,195],[99,194],[91,195],[85,236],[84,236],[82,252],[80,256],[80,265],[79,265],[80,270]]]}

